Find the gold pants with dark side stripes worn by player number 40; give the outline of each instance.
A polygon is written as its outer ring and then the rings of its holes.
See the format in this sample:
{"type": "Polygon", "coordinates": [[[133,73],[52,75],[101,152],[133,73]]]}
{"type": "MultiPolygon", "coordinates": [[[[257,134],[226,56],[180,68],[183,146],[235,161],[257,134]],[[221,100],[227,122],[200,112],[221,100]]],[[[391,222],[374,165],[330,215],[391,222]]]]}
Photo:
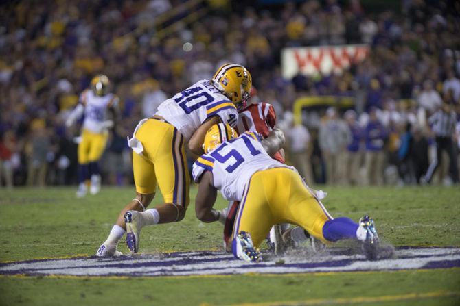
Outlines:
{"type": "Polygon", "coordinates": [[[190,177],[181,133],[169,123],[151,118],[139,127],[135,138],[143,146],[142,155],[133,151],[136,191],[152,194],[158,185],[165,203],[186,208],[190,177]]]}

